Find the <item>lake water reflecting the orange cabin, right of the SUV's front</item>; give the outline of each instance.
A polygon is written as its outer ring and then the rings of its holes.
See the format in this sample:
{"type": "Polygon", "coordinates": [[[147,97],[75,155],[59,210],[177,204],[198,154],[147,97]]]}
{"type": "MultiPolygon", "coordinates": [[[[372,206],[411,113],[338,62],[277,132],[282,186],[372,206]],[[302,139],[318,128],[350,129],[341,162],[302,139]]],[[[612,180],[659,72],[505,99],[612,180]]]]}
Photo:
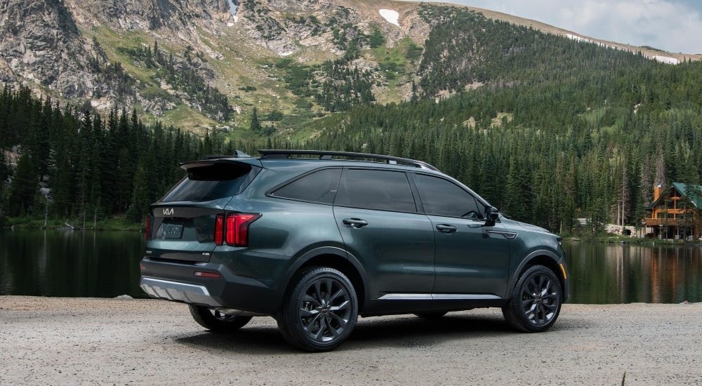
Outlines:
{"type": "Polygon", "coordinates": [[[571,302],[702,301],[700,246],[564,243],[571,302]]]}

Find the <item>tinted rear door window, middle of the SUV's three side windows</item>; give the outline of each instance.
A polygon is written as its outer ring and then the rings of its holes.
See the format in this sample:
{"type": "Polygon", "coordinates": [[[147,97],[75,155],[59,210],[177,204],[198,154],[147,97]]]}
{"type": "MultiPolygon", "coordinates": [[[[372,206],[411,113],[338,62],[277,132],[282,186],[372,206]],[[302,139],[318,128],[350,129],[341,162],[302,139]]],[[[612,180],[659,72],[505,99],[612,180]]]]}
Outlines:
{"type": "Polygon", "coordinates": [[[380,211],[417,211],[409,180],[402,171],[348,169],[334,204],[380,211]]]}

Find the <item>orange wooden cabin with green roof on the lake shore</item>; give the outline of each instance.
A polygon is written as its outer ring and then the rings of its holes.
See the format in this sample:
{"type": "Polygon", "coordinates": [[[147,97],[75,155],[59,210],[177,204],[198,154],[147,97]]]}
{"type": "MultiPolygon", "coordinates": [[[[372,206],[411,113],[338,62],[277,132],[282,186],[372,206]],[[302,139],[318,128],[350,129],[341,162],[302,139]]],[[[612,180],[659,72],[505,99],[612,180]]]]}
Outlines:
{"type": "Polygon", "coordinates": [[[702,185],[673,182],[668,188],[654,187],[654,201],[647,208],[650,218],[642,225],[648,237],[698,239],[702,233],[702,185]]]}

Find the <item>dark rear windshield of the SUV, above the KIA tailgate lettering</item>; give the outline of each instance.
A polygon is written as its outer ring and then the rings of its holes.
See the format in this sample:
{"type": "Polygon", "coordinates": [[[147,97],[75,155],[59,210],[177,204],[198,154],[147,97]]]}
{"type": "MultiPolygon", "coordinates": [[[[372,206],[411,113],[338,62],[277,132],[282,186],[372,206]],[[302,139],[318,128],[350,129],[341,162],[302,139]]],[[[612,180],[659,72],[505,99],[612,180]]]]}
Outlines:
{"type": "Polygon", "coordinates": [[[239,194],[256,176],[248,164],[216,163],[190,167],[187,177],[171,190],[162,202],[211,201],[239,194]]]}

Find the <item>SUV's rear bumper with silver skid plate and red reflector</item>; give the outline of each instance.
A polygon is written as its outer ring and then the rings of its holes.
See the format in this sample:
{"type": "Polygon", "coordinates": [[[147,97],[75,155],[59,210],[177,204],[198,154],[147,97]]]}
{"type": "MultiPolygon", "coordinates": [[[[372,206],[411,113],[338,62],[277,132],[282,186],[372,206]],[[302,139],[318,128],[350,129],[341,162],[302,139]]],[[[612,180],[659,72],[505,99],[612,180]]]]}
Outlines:
{"type": "Polygon", "coordinates": [[[238,276],[225,265],[146,257],[141,266],[140,287],[152,298],[268,315],[274,315],[281,306],[282,290],[238,276]],[[196,277],[195,272],[217,273],[220,277],[196,277]]]}

